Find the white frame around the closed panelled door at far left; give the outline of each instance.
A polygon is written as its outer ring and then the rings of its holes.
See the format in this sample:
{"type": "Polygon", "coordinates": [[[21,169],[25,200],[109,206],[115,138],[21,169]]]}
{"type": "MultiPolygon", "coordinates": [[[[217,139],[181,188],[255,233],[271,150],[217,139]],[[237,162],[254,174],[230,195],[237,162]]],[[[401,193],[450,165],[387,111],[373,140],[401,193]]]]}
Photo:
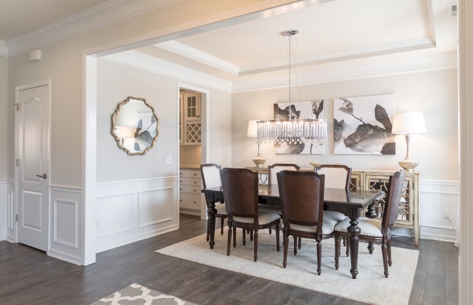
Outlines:
{"type": "MultiPolygon", "coordinates": [[[[46,208],[47,208],[47,216],[48,216],[48,219],[47,219],[47,236],[48,236],[48,246],[47,246],[47,249],[49,251],[49,246],[50,246],[50,238],[49,238],[49,232],[51,227],[50,227],[50,224],[51,224],[51,221],[50,221],[50,215],[49,215],[49,212],[51,210],[51,207],[50,207],[50,201],[51,201],[51,191],[50,191],[50,185],[51,185],[51,79],[46,79],[46,80],[41,80],[41,81],[37,81],[37,82],[32,82],[32,83],[27,83],[27,84],[24,84],[24,85],[19,85],[19,86],[16,86],[15,87],[15,106],[19,104],[19,101],[18,101],[18,98],[19,98],[19,92],[22,91],[22,90],[26,90],[26,89],[32,89],[32,88],[36,88],[36,87],[42,87],[42,86],[48,86],[48,89],[49,89],[49,100],[48,100],[48,136],[47,136],[47,139],[48,139],[48,142],[47,142],[47,160],[48,160],[48,168],[47,168],[47,171],[48,171],[48,179],[47,179],[47,192],[48,192],[48,201],[47,201],[47,204],[46,204],[46,208]]],[[[15,215],[18,215],[18,166],[16,166],[16,159],[18,159],[18,111],[15,110],[15,154],[14,154],[14,159],[12,160],[14,166],[15,166],[15,181],[14,181],[14,191],[13,193],[15,194],[14,195],[14,214],[15,215]]],[[[15,220],[16,220],[16,217],[15,217],[15,220]]],[[[13,226],[13,242],[18,242],[18,221],[15,221],[15,224],[13,226]]]]}

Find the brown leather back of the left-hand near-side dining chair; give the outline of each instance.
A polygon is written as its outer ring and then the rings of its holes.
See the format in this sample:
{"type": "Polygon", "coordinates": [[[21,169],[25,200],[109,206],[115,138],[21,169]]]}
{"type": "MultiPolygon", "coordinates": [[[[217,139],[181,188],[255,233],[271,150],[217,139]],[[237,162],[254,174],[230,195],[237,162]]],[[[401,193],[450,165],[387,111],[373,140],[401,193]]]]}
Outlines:
{"type": "Polygon", "coordinates": [[[229,220],[253,217],[257,224],[258,173],[246,168],[224,168],[220,173],[229,220]]]}

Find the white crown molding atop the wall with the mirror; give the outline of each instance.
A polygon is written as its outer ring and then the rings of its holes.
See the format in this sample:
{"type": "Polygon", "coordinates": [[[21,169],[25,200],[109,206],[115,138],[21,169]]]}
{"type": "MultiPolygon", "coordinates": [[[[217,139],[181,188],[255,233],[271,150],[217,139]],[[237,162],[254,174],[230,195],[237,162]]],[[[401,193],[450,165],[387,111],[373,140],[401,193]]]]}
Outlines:
{"type": "Polygon", "coordinates": [[[137,51],[131,50],[103,56],[101,58],[130,67],[150,71],[156,74],[177,78],[180,81],[190,82],[199,86],[205,86],[229,93],[232,90],[231,81],[166,62],[165,60],[158,59],[156,57],[137,51]]]}

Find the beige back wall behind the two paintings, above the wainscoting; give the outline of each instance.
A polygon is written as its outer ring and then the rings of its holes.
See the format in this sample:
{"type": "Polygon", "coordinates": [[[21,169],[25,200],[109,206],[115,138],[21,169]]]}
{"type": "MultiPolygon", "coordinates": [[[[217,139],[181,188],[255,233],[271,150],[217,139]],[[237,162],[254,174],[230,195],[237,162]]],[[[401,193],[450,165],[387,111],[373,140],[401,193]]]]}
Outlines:
{"type": "MultiPolygon", "coordinates": [[[[296,92],[294,90],[294,92],[296,92]]],[[[458,179],[457,70],[412,73],[359,80],[307,85],[301,89],[302,100],[324,99],[325,118],[329,119],[329,135],[333,134],[333,98],[396,94],[396,111],[424,111],[427,133],[413,135],[411,158],[423,179],[458,179]],[[307,92],[307,95],[304,95],[307,92]]],[[[278,97],[276,92],[274,97],[278,97]]],[[[287,96],[287,89],[282,97],[287,96]]],[[[232,166],[252,164],[257,145],[246,137],[248,120],[272,117],[273,90],[232,95],[232,166]]],[[[284,102],[287,100],[281,100],[284,102]]],[[[310,168],[314,163],[343,163],[354,169],[398,169],[405,157],[404,136],[396,137],[396,156],[333,155],[333,137],[324,155],[275,155],[270,144],[262,144],[266,165],[297,163],[310,168]]]]}

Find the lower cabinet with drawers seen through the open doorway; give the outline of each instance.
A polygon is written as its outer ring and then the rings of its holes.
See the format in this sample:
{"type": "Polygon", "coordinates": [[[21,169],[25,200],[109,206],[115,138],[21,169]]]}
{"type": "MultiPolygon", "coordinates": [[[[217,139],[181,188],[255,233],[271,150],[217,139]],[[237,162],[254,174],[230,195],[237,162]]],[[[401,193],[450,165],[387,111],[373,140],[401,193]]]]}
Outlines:
{"type": "Polygon", "coordinates": [[[201,172],[179,170],[179,207],[181,213],[199,215],[201,210],[201,172]]]}

